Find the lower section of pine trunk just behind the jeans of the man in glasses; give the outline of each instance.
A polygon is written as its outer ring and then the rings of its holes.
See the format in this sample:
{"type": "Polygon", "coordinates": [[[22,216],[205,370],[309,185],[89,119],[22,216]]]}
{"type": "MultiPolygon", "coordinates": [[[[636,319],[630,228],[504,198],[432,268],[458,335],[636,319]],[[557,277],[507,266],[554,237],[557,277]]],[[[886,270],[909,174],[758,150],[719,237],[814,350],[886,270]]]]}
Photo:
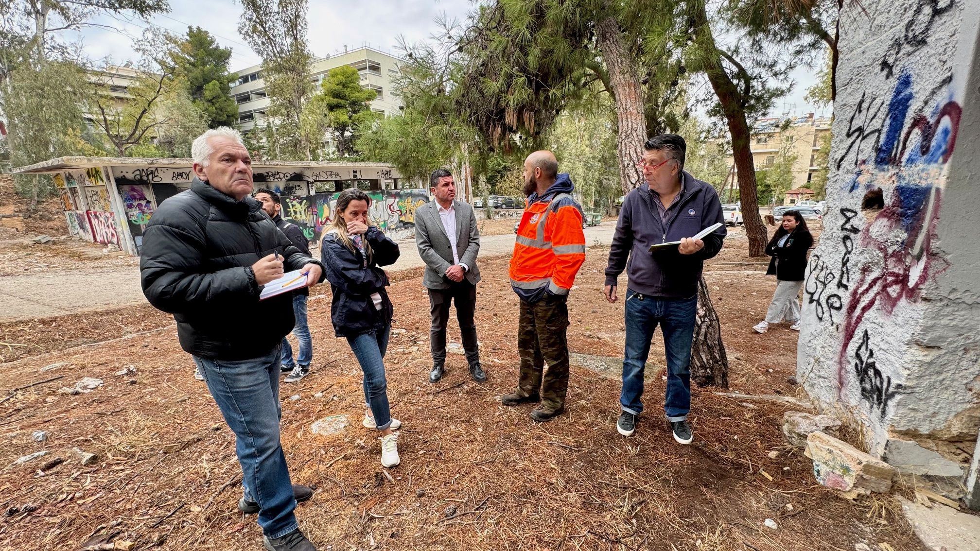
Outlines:
{"type": "Polygon", "coordinates": [[[721,324],[711,305],[708,283],[698,281],[698,318],[694,323],[691,345],[691,380],[698,386],[728,388],[728,356],[721,342],[721,324]]]}

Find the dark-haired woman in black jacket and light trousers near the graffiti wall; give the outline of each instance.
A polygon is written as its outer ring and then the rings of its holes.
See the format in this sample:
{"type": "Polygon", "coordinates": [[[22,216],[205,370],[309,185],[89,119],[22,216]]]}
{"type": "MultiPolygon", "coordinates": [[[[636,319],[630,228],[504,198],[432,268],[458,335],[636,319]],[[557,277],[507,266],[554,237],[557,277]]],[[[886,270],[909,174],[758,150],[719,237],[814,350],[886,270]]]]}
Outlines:
{"type": "Polygon", "coordinates": [[[807,252],[813,244],[807,221],[800,211],[786,211],[783,222],[765,247],[765,254],[772,257],[765,275],[775,275],[778,280],[765,320],[752,327],[757,333],[769,330],[769,324],[791,322],[791,329],[800,330],[800,303],[797,300],[807,271],[807,252]]]}

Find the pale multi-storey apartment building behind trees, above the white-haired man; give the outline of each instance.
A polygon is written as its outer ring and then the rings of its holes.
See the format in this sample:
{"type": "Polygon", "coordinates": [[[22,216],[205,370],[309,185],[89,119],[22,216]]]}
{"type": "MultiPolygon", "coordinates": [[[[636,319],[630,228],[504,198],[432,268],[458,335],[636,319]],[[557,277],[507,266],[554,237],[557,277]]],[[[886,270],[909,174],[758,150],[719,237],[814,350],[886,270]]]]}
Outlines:
{"type": "MultiPolygon", "coordinates": [[[[370,104],[371,110],[381,114],[394,113],[402,105],[392,89],[400,64],[398,58],[369,46],[350,51],[345,47],[343,53],[311,62],[310,79],[319,86],[331,69],[349,65],[361,74],[361,86],[377,92],[377,98],[370,104]]],[[[261,65],[242,69],[238,75],[238,80],[231,83],[231,95],[238,104],[238,127],[244,132],[266,124],[269,97],[261,65]]]]}

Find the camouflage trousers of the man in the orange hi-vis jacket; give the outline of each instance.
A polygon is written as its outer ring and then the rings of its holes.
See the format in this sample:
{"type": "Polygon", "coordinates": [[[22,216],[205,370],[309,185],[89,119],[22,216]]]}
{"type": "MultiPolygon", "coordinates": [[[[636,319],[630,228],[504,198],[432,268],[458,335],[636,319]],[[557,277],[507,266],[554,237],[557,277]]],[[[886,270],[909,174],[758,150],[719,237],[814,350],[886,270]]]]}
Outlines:
{"type": "Polygon", "coordinates": [[[567,295],[548,294],[534,303],[520,301],[517,391],[524,396],[540,395],[541,405],[553,410],[564,406],[568,390],[567,300],[567,295]]]}

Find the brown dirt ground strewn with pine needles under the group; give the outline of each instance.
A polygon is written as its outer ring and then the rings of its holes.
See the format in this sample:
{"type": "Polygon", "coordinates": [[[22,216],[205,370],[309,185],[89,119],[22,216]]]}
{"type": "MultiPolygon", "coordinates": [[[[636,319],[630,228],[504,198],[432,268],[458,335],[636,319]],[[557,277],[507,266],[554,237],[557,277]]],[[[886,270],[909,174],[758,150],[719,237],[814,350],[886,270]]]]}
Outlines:
{"type": "MultiPolygon", "coordinates": [[[[624,327],[621,303],[602,298],[607,252],[589,249],[569,300],[568,340],[572,352],[614,365],[624,327]]],[[[551,423],[531,422],[530,406],[502,406],[497,397],[512,389],[518,361],[507,263],[481,263],[482,384],[456,354],[442,381],[427,382],[420,271],[393,277],[393,326],[405,331],[393,335],[386,366],[392,413],[405,425],[402,464],[390,470],[380,467],[376,434],[360,425],[361,372],[333,335],[329,289],[311,292],[315,368],[282,385],[282,443],[293,481],[317,486],[297,517],[319,549],[922,549],[890,498],[850,502],[816,484],[809,460],[782,440],[785,406],[695,388],[694,444],[674,443],[658,414],[659,336],[648,413],[631,438],[615,432],[615,374],[573,367],[567,412],[551,423]],[[328,416],[347,416],[349,425],[330,436],[312,433],[328,416]],[[779,454],[770,459],[770,451],[779,454]],[[777,528],[763,526],[766,519],[777,528]]],[[[751,331],[775,287],[764,268],[747,258],[741,229],[707,267],[731,390],[798,395],[788,380],[798,333],[751,331]]],[[[105,540],[139,550],[260,548],[255,518],[236,510],[234,436],[193,378],[168,317],[142,306],[0,330],[9,345],[0,344],[9,348],[0,371],[0,549],[81,549],[105,540]],[[83,376],[104,384],[59,392],[83,376]],[[46,432],[43,443],[33,439],[38,430],[46,432]],[[73,448],[98,460],[83,466],[73,448]],[[15,464],[42,450],[48,454],[15,464]],[[44,469],[56,458],[64,463],[44,469]]],[[[459,342],[455,324],[450,331],[459,342]]]]}

